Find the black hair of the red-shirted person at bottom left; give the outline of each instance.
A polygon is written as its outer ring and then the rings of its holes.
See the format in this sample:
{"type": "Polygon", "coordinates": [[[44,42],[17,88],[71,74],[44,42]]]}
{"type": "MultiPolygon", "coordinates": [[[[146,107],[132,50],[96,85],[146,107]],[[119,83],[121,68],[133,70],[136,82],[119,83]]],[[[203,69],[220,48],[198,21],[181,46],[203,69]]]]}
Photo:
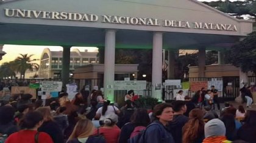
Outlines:
{"type": "Polygon", "coordinates": [[[21,118],[19,125],[21,129],[30,129],[34,128],[40,121],[43,121],[43,115],[39,111],[31,111],[21,118]]]}

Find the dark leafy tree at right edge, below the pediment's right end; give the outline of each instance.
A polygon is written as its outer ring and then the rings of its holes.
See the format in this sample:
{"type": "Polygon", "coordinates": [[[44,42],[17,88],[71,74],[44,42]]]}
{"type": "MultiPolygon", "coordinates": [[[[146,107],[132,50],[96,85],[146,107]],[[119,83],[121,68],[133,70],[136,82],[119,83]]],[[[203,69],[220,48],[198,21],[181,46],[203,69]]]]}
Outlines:
{"type": "Polygon", "coordinates": [[[256,32],[252,32],[243,41],[233,45],[229,51],[229,61],[243,72],[256,73],[256,32]]]}

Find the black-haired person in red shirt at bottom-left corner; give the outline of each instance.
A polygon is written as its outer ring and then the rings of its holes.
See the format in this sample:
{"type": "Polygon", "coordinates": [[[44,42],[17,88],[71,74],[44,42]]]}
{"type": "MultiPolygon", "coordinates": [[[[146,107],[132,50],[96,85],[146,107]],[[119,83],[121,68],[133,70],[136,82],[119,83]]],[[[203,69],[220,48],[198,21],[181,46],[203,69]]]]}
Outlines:
{"type": "Polygon", "coordinates": [[[10,135],[5,143],[53,143],[51,136],[44,132],[38,132],[43,124],[43,115],[38,111],[31,111],[23,116],[19,125],[21,130],[10,135]]]}

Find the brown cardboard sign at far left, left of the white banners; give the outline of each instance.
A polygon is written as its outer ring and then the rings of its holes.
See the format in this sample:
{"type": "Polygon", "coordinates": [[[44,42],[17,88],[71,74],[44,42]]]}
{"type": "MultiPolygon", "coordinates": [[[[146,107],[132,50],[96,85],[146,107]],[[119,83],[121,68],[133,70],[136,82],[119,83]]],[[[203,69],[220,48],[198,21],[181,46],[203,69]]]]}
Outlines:
{"type": "Polygon", "coordinates": [[[35,88],[29,88],[29,87],[12,87],[12,95],[13,94],[20,94],[21,92],[24,92],[25,94],[32,95],[32,99],[37,98],[37,91],[35,88]]]}

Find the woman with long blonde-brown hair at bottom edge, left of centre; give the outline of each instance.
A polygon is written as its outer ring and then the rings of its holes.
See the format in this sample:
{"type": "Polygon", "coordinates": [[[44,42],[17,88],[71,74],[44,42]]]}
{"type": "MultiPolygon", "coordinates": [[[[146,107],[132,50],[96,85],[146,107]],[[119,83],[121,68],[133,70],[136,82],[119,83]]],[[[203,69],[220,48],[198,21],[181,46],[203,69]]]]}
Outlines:
{"type": "Polygon", "coordinates": [[[93,123],[89,119],[80,119],[69,136],[67,143],[105,143],[104,141],[91,136],[93,131],[93,123]]]}

